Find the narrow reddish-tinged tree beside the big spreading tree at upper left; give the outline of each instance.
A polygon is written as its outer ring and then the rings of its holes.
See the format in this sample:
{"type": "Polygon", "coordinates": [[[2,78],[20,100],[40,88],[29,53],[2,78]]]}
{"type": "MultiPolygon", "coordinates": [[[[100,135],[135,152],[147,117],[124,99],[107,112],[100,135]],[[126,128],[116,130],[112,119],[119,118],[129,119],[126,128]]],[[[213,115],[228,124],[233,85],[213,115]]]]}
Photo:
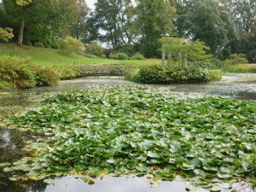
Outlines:
{"type": "Polygon", "coordinates": [[[83,43],[87,42],[88,32],[87,32],[87,15],[90,9],[84,0],[78,0],[79,5],[79,18],[76,23],[72,23],[68,26],[68,31],[73,38],[81,40],[83,43]]]}

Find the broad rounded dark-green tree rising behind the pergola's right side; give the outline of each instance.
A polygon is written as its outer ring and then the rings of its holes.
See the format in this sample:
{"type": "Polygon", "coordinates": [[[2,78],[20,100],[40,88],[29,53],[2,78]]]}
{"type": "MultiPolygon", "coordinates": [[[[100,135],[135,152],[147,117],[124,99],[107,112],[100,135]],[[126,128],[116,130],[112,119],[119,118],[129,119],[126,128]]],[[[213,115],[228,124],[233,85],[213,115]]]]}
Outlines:
{"type": "Polygon", "coordinates": [[[232,27],[229,18],[225,16],[218,3],[198,2],[189,14],[177,18],[177,31],[194,41],[200,39],[211,48],[208,53],[216,54],[227,40],[229,30],[226,27],[232,27]]]}

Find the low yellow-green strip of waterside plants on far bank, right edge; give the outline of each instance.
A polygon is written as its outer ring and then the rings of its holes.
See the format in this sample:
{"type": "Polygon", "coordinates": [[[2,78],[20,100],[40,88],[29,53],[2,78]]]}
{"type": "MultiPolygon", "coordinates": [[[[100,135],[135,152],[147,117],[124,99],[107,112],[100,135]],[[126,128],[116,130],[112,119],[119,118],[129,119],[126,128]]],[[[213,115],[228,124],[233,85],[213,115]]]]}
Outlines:
{"type": "Polygon", "coordinates": [[[237,66],[225,65],[222,70],[224,71],[224,73],[256,73],[256,65],[254,64],[237,65],[237,66]]]}

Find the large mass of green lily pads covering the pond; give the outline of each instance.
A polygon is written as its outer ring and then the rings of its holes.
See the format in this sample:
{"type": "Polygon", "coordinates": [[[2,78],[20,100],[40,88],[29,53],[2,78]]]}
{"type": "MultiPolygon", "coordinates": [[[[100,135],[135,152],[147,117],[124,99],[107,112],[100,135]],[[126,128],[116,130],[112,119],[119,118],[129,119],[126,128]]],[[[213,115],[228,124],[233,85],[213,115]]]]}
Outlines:
{"type": "Polygon", "coordinates": [[[49,96],[3,122],[52,135],[27,142],[24,149],[35,154],[4,168],[28,172],[13,180],[74,174],[91,184],[91,177],[138,176],[153,187],[161,180],[183,180],[186,189],[218,191],[255,172],[253,101],[180,100],[118,86],[49,96]]]}

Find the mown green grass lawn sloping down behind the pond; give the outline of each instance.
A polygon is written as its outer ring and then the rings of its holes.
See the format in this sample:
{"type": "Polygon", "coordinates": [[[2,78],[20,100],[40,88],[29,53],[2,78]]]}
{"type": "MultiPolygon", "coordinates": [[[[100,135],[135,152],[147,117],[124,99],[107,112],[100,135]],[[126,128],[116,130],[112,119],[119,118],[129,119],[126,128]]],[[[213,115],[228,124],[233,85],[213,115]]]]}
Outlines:
{"type": "Polygon", "coordinates": [[[160,59],[150,60],[110,60],[110,59],[91,59],[82,55],[63,55],[60,50],[57,49],[46,49],[38,48],[33,46],[22,45],[21,47],[16,44],[0,44],[0,55],[20,55],[21,57],[31,57],[35,64],[44,67],[53,67],[58,65],[67,65],[73,63],[73,61],[83,62],[88,64],[96,63],[108,63],[108,62],[121,62],[121,63],[132,63],[137,65],[161,65],[160,59]]]}

